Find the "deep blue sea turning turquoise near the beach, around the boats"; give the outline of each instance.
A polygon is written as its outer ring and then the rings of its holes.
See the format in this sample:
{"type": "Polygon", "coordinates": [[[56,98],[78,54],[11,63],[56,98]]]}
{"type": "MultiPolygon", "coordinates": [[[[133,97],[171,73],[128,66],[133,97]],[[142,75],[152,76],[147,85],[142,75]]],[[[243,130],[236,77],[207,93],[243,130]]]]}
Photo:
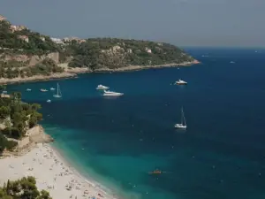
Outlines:
{"type": "Polygon", "coordinates": [[[7,89],[41,103],[42,125],[64,158],[124,198],[264,199],[265,50],[185,50],[201,64],[7,89]],[[173,85],[178,79],[188,84],[173,85]],[[57,83],[62,98],[40,92],[57,83]],[[125,95],[104,97],[99,84],[125,95]],[[184,131],[174,128],[182,108],[184,131]],[[149,174],[155,169],[162,173],[149,174]]]}

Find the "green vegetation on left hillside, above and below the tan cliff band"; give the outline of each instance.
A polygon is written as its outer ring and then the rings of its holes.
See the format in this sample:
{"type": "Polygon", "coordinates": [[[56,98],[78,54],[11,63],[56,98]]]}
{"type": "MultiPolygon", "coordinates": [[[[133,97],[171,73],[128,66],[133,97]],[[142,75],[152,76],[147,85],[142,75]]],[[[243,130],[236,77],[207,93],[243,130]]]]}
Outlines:
{"type": "Polygon", "coordinates": [[[62,73],[64,70],[50,58],[45,58],[30,67],[28,60],[19,61],[19,59],[10,58],[17,55],[42,56],[60,50],[60,46],[52,42],[49,36],[30,31],[27,28],[13,32],[8,21],[0,21],[0,78],[13,79],[62,73]],[[19,36],[26,36],[28,41],[19,38],[19,36]]]}

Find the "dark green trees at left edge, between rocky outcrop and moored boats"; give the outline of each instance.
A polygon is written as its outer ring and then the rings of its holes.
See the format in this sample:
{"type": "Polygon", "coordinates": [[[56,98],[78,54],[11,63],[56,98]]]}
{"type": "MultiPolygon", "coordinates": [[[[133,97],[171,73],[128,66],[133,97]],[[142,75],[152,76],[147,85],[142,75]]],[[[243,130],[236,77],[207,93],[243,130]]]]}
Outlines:
{"type": "MultiPolygon", "coordinates": [[[[1,86],[3,90],[4,87],[1,86]]],[[[42,114],[38,112],[41,105],[38,103],[21,102],[21,94],[13,93],[11,97],[0,98],[0,123],[4,129],[0,131],[0,154],[4,149],[13,149],[15,142],[6,138],[20,139],[28,128],[31,128],[42,119],[42,114]]]]}

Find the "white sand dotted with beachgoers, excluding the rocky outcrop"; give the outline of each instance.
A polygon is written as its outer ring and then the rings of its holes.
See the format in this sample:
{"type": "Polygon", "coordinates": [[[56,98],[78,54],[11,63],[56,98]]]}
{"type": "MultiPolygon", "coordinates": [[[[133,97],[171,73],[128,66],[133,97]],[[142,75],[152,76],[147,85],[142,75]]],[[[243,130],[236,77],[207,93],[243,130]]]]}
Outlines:
{"type": "Polygon", "coordinates": [[[38,144],[22,157],[0,159],[0,185],[24,176],[34,176],[38,189],[49,191],[53,199],[115,198],[82,178],[49,144],[38,144]],[[66,186],[72,188],[67,190],[66,186]]]}

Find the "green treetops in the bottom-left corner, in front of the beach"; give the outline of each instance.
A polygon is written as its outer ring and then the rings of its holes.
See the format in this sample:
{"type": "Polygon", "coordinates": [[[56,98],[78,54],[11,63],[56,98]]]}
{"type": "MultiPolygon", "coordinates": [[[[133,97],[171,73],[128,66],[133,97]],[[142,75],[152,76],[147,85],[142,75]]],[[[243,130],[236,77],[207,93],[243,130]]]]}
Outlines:
{"type": "Polygon", "coordinates": [[[24,177],[21,180],[8,180],[3,188],[0,188],[1,199],[52,199],[49,192],[38,191],[34,177],[24,177]]]}

